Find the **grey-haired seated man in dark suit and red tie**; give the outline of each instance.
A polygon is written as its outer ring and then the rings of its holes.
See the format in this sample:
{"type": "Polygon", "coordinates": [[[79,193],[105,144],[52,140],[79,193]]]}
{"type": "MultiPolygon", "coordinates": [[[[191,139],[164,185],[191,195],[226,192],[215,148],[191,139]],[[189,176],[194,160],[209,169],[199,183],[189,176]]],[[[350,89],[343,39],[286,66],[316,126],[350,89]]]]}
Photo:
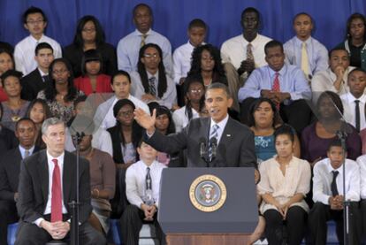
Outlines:
{"type": "MultiPolygon", "coordinates": [[[[46,149],[27,157],[20,166],[19,201],[21,223],[15,244],[45,244],[51,240],[70,242],[69,203],[76,199],[76,157],[65,151],[65,125],[61,119],[42,124],[46,149]]],[[[106,244],[103,234],[88,223],[90,173],[88,161],[80,158],[80,244],[106,244]]]]}

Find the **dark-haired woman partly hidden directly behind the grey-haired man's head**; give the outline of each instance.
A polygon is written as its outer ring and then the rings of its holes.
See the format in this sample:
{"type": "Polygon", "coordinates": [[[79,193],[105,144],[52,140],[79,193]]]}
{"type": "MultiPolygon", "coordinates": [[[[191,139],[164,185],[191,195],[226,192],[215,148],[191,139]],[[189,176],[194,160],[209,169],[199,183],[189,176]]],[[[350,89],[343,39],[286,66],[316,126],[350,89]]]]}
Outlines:
{"type": "Polygon", "coordinates": [[[35,127],[37,129],[37,136],[35,137],[35,145],[40,149],[45,149],[46,144],[42,141],[42,123],[45,119],[50,119],[51,112],[47,103],[42,99],[35,99],[29,103],[27,109],[27,118],[34,121],[35,127]]]}

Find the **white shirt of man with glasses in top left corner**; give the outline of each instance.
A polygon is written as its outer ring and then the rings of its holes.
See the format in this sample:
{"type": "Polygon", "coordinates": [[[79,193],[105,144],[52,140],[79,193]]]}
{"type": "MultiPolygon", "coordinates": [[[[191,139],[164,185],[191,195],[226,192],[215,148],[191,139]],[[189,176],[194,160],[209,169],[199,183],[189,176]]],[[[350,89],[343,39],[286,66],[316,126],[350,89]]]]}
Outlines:
{"type": "Polygon", "coordinates": [[[28,35],[22,41],[18,42],[14,49],[15,67],[23,76],[32,73],[37,67],[34,60],[34,50],[38,43],[47,42],[53,49],[55,58],[62,57],[61,46],[58,42],[43,34],[40,40],[36,40],[32,35],[28,35]]]}

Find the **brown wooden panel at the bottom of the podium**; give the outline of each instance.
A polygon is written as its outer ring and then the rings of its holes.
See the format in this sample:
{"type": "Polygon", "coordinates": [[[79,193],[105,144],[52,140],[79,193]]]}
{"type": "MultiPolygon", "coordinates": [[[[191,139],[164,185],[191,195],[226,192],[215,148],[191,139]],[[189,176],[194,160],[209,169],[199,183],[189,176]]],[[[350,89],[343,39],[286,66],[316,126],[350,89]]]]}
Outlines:
{"type": "Polygon", "coordinates": [[[250,234],[166,234],[167,245],[248,244],[250,234]]]}

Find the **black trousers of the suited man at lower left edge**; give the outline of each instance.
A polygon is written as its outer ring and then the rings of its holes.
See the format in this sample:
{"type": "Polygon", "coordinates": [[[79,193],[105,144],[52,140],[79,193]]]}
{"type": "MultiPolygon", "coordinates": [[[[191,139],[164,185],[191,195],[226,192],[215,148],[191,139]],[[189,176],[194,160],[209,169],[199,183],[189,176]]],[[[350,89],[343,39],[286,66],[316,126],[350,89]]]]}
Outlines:
{"type": "Polygon", "coordinates": [[[8,244],[8,225],[19,220],[14,202],[0,200],[0,244],[8,244]]]}

